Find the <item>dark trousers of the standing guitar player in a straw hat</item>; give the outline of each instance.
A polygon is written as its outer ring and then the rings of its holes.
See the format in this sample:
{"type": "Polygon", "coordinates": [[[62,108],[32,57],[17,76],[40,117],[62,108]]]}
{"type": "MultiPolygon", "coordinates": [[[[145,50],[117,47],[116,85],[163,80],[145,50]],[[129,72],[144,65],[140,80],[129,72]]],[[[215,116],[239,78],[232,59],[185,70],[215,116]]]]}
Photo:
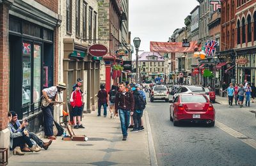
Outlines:
{"type": "Polygon", "coordinates": [[[52,111],[53,107],[48,106],[43,110],[43,115],[44,115],[44,132],[46,136],[52,136],[53,135],[53,116],[52,116],[52,111]]]}

